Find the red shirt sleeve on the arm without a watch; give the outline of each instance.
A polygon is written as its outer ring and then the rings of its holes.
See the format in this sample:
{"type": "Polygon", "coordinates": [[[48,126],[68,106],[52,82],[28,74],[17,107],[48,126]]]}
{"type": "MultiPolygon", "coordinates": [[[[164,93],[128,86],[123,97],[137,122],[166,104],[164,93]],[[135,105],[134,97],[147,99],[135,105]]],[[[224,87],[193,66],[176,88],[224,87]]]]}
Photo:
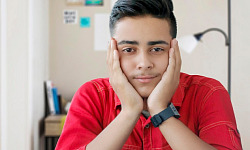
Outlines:
{"type": "Polygon", "coordinates": [[[75,93],[56,150],[84,150],[102,129],[102,105],[92,82],[75,93]]]}

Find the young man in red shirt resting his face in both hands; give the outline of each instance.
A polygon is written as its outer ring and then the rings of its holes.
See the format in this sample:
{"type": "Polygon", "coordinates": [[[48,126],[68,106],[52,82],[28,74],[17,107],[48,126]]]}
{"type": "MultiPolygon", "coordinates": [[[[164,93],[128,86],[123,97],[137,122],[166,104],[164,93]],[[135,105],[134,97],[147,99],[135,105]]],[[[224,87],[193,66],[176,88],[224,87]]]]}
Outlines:
{"type": "Polygon", "coordinates": [[[116,2],[110,78],[76,92],[56,149],[242,149],[225,88],[180,73],[176,28],[171,0],[116,2]]]}

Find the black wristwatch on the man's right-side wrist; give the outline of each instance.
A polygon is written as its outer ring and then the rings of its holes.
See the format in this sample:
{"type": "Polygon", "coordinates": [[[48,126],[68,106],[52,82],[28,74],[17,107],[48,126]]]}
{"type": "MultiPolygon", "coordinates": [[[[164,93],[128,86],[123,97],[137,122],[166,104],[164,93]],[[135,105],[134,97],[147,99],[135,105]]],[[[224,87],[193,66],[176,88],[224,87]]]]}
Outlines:
{"type": "Polygon", "coordinates": [[[180,118],[179,112],[176,110],[174,105],[170,103],[170,105],[160,113],[154,115],[151,118],[151,122],[154,127],[158,127],[163,121],[167,120],[170,117],[180,118]]]}

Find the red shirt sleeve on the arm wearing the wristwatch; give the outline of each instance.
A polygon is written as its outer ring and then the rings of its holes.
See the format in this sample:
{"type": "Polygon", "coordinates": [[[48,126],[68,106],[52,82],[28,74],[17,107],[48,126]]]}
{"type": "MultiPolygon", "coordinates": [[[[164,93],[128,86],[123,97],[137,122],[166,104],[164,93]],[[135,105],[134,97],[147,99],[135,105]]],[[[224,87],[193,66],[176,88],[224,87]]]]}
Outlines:
{"type": "Polygon", "coordinates": [[[242,150],[230,96],[224,87],[206,95],[198,120],[202,140],[218,150],[242,150]]]}

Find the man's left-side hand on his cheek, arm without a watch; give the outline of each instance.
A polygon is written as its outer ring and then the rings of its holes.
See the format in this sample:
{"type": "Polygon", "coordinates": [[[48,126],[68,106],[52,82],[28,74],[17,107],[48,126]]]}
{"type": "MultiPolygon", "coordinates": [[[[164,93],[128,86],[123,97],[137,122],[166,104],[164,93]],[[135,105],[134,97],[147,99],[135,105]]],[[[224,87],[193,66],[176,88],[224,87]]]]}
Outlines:
{"type": "Polygon", "coordinates": [[[109,82],[121,101],[122,111],[139,115],[143,109],[143,100],[122,72],[115,39],[111,39],[109,43],[107,64],[110,76],[109,82]]]}

